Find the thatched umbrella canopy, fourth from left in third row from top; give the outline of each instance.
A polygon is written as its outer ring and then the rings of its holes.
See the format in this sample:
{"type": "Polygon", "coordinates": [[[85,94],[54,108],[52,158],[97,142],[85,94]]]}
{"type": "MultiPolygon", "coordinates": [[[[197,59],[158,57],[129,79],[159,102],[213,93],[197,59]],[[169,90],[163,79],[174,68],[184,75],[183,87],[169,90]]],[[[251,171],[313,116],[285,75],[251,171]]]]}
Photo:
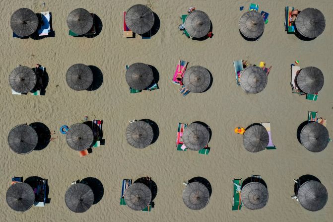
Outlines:
{"type": "Polygon", "coordinates": [[[200,123],[191,123],[183,132],[184,145],[192,150],[204,148],[209,141],[209,131],[200,123]]]}

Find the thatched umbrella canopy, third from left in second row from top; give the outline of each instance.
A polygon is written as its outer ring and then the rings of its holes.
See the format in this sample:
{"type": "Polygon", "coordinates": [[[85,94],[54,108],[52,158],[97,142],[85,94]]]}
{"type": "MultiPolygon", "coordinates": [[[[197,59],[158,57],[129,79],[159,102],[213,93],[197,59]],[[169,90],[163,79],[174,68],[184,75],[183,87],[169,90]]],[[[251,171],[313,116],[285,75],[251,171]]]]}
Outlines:
{"type": "Polygon", "coordinates": [[[153,71],[143,63],[134,63],[126,71],[127,84],[133,89],[147,88],[153,80],[153,71]]]}

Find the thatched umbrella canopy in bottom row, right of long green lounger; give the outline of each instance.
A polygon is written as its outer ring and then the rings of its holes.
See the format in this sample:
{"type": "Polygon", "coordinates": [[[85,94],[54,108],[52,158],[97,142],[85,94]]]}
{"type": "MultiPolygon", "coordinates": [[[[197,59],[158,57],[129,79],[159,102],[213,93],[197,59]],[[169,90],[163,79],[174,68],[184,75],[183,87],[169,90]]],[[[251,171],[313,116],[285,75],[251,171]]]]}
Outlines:
{"type": "Polygon", "coordinates": [[[258,210],[266,206],[268,190],[259,182],[247,183],[241,190],[243,205],[250,210],[258,210]]]}

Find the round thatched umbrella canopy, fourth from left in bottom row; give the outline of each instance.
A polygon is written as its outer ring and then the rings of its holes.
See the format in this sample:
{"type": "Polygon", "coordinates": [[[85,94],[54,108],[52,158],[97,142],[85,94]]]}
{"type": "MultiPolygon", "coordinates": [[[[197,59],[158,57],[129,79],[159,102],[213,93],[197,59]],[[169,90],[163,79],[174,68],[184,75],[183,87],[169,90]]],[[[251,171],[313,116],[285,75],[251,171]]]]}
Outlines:
{"type": "Polygon", "coordinates": [[[183,191],[183,201],[191,210],[201,210],[208,204],[209,191],[202,183],[189,183],[183,191]]]}

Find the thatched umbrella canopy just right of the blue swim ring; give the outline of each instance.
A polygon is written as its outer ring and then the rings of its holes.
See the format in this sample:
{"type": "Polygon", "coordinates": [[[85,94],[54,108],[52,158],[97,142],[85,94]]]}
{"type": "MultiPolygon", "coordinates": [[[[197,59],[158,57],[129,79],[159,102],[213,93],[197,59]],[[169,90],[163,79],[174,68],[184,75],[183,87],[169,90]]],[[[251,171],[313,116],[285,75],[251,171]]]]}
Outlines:
{"type": "Polygon", "coordinates": [[[87,125],[75,123],[69,127],[66,139],[70,148],[81,151],[91,147],[94,142],[94,134],[87,125]]]}

